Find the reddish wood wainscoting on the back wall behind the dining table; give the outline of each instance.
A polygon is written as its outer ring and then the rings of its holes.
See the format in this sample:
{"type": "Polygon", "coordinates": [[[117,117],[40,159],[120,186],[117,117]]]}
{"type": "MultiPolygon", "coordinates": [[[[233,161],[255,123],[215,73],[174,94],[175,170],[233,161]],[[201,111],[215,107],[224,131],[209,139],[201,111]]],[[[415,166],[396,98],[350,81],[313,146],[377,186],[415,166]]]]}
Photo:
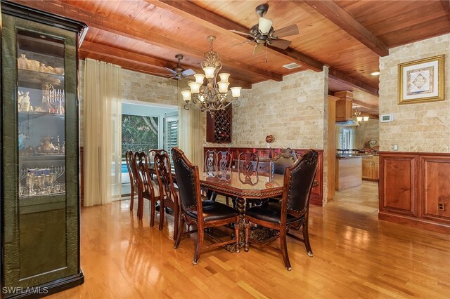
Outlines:
{"type": "MultiPolygon", "coordinates": [[[[253,150],[259,152],[259,159],[262,157],[276,157],[278,148],[271,147],[203,147],[203,159],[205,159],[205,152],[208,150],[224,151],[227,150],[233,154],[233,160],[237,160],[241,152],[252,152],[253,150]]],[[[307,149],[293,149],[300,156],[302,152],[306,152],[307,149]]],[[[316,206],[323,206],[323,150],[316,150],[319,154],[319,160],[317,161],[316,178],[314,178],[314,184],[311,189],[311,204],[316,206]]],[[[334,157],[333,157],[334,159],[334,157]]],[[[261,160],[260,160],[261,161],[261,160]]]]}

